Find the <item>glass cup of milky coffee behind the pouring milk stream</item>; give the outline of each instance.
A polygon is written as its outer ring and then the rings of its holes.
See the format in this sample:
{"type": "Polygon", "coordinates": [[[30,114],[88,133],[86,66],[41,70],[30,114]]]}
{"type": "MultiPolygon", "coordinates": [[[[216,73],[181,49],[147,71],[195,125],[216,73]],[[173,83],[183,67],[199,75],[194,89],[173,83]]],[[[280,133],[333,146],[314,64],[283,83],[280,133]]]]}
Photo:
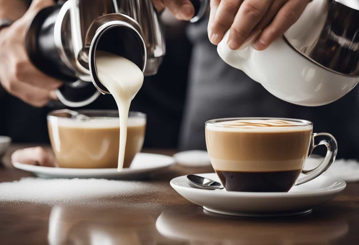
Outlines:
{"type": "MultiPolygon", "coordinates": [[[[117,168],[120,121],[115,110],[56,110],[47,115],[48,132],[61,168],[117,168]]],[[[143,146],[146,115],[130,111],[123,168],[143,146]]]]}

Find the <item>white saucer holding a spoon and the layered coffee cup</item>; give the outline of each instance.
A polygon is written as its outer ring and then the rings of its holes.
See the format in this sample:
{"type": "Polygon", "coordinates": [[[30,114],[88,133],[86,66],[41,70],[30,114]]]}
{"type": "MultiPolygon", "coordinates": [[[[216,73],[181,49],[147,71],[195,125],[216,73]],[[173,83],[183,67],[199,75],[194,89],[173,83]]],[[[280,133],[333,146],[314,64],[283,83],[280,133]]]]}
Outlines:
{"type": "MultiPolygon", "coordinates": [[[[219,181],[216,173],[198,174],[219,181]]],[[[310,212],[344,190],[345,181],[319,176],[289,192],[234,192],[191,187],[186,176],[170,182],[181,196],[210,212],[237,216],[286,216],[310,212]]]]}

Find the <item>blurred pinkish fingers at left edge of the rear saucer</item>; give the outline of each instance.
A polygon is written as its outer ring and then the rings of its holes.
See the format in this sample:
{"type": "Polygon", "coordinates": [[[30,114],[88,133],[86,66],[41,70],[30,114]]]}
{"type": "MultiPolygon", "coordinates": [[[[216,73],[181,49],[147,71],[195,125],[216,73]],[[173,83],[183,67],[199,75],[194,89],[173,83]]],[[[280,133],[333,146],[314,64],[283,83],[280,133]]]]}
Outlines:
{"type": "Polygon", "coordinates": [[[52,152],[41,146],[15,151],[11,155],[11,163],[14,164],[16,162],[45,167],[56,167],[55,157],[52,152]]]}

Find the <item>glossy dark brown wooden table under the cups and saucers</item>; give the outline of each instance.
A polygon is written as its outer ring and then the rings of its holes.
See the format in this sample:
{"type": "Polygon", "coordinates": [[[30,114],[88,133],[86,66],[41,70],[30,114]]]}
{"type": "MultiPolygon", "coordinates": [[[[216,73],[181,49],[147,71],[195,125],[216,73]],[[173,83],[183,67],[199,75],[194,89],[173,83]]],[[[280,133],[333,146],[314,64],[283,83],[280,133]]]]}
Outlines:
{"type": "MultiPolygon", "coordinates": [[[[32,176],[10,164],[10,154],[25,146],[11,146],[0,182],[32,176]]],[[[160,193],[125,197],[121,208],[0,202],[0,244],[359,244],[359,183],[307,215],[278,218],[209,213],[169,185],[176,176],[212,171],[174,165],[144,181],[160,193]]]]}

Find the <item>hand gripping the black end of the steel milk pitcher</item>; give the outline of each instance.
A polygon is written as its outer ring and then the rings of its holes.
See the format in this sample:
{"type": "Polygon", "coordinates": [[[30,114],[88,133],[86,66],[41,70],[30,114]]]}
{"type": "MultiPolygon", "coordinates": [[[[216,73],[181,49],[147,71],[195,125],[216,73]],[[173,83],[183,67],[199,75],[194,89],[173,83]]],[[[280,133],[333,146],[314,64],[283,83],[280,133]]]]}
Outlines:
{"type": "Polygon", "coordinates": [[[33,0],[22,18],[0,31],[0,82],[12,95],[33,106],[44,106],[57,99],[55,90],[62,85],[39,71],[25,50],[25,36],[32,18],[39,10],[53,5],[52,0],[33,0]]]}

